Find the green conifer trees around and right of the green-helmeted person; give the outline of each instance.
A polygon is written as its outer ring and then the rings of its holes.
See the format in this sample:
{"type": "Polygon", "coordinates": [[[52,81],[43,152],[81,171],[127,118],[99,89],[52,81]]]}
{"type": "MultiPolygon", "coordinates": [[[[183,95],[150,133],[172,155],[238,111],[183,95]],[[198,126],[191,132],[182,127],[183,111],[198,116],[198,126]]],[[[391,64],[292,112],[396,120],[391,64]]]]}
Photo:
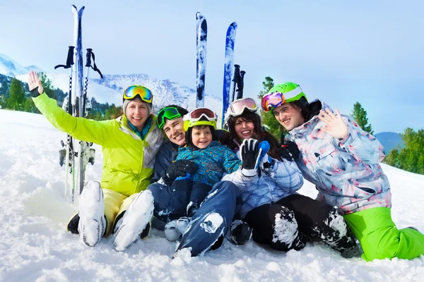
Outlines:
{"type": "MultiPolygon", "coordinates": [[[[258,98],[264,97],[264,94],[268,93],[273,86],[273,79],[267,76],[262,82],[263,90],[259,92],[258,98]]],[[[359,102],[353,105],[351,116],[364,131],[374,134],[372,125],[368,123],[367,111],[359,102]]],[[[273,117],[271,111],[261,110],[261,121],[266,130],[276,136],[278,140],[287,134],[287,131],[273,117]]],[[[412,128],[406,128],[405,132],[401,134],[401,138],[404,140],[405,147],[401,148],[398,145],[396,149],[392,149],[384,158],[383,163],[405,171],[424,174],[424,130],[415,131],[412,128]]]]}

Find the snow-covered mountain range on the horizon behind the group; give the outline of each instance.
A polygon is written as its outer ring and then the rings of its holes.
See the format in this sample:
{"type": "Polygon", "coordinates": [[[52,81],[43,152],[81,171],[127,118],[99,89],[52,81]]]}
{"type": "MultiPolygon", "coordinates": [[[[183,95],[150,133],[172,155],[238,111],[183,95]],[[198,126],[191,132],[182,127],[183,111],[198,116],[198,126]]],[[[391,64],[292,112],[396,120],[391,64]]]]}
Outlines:
{"type": "MultiPolygon", "coordinates": [[[[26,82],[29,71],[42,71],[36,66],[23,67],[16,63],[6,55],[0,54],[0,73],[4,75],[15,75],[18,80],[26,82]]],[[[66,73],[46,73],[47,78],[52,80],[54,87],[58,87],[64,92],[69,91],[69,75],[66,73]]],[[[196,90],[179,85],[177,82],[170,80],[161,80],[151,78],[146,74],[131,75],[104,75],[103,79],[98,78],[98,73],[90,72],[88,82],[88,97],[94,97],[97,102],[122,104],[122,92],[130,85],[143,85],[148,87],[153,93],[153,105],[155,112],[158,109],[169,104],[177,104],[186,109],[194,109],[196,107],[196,90]]],[[[222,102],[217,97],[206,94],[205,106],[216,111],[218,118],[220,117],[222,102]]]]}

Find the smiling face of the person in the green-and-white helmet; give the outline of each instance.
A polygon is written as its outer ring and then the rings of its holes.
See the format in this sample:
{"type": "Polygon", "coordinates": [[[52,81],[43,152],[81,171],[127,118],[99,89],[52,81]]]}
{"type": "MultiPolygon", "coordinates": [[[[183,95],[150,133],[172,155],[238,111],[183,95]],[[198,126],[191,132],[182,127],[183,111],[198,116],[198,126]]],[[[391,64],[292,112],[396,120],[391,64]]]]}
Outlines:
{"type": "Polygon", "coordinates": [[[293,103],[278,106],[272,110],[272,113],[278,123],[283,125],[283,128],[287,131],[305,123],[300,107],[293,103]]]}

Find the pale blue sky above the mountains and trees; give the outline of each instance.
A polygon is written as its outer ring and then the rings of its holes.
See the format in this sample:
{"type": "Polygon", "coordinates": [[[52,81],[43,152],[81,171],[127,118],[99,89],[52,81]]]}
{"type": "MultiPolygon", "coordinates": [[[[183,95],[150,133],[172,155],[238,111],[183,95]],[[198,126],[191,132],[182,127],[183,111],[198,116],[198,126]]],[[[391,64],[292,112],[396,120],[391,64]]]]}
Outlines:
{"type": "Polygon", "coordinates": [[[86,6],[83,48],[93,48],[102,73],[195,88],[201,11],[206,94],[222,94],[225,32],[236,21],[245,96],[256,97],[271,76],[343,114],[360,102],[375,133],[424,128],[422,1],[0,1],[0,53],[54,72],[73,42],[71,4],[86,6]]]}

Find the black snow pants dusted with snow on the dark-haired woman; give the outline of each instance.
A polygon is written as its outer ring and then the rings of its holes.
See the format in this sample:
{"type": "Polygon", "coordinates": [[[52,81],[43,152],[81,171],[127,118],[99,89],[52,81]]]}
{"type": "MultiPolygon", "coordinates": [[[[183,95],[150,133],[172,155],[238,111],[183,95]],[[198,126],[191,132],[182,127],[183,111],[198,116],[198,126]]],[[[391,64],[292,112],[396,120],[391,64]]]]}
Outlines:
{"type": "Polygon", "coordinates": [[[312,240],[324,241],[341,252],[343,257],[353,257],[360,252],[355,236],[337,209],[304,195],[293,194],[274,204],[265,204],[252,209],[245,217],[245,221],[254,229],[253,239],[257,243],[266,243],[277,250],[285,248],[298,250],[295,245],[305,244],[303,237],[306,236],[312,240]],[[299,234],[298,237],[293,234],[294,245],[281,246],[281,241],[276,240],[276,235],[282,232],[276,230],[281,226],[281,222],[277,222],[279,217],[277,214],[281,214],[281,218],[284,215],[288,221],[296,221],[299,234]],[[291,214],[294,215],[293,219],[291,214]]]}

